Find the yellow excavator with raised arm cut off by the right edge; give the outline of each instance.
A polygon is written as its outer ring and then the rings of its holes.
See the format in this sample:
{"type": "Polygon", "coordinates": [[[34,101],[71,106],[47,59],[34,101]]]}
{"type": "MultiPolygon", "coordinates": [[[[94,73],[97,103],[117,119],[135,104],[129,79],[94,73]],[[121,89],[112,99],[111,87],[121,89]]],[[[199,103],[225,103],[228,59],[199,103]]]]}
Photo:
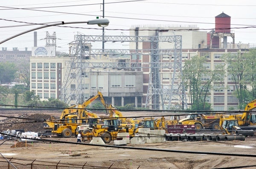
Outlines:
{"type": "Polygon", "coordinates": [[[239,126],[249,126],[249,125],[256,125],[256,114],[252,114],[249,111],[252,111],[256,108],[256,99],[250,101],[244,108],[243,114],[238,115],[227,115],[225,116],[226,119],[237,119],[239,126]]]}

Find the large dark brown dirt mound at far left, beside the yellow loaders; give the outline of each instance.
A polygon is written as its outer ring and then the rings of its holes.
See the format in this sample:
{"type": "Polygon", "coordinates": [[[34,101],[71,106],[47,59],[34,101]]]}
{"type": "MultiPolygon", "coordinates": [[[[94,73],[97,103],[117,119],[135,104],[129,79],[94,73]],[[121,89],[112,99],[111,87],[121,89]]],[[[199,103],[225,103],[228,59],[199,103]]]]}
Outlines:
{"type": "Polygon", "coordinates": [[[25,132],[45,132],[44,121],[52,118],[51,115],[44,113],[22,114],[17,117],[1,120],[1,131],[24,129],[25,132]]]}

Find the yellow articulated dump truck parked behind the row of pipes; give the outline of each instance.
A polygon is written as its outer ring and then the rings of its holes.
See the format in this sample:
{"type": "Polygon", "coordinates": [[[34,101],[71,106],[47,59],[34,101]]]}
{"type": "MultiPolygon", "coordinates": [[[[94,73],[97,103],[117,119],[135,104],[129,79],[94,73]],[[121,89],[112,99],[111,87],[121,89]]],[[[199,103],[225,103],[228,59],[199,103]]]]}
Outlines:
{"type": "Polygon", "coordinates": [[[200,130],[203,128],[211,128],[218,130],[219,128],[219,114],[216,115],[204,115],[204,114],[192,114],[189,113],[186,118],[179,121],[179,124],[183,125],[195,125],[195,129],[200,130]]]}

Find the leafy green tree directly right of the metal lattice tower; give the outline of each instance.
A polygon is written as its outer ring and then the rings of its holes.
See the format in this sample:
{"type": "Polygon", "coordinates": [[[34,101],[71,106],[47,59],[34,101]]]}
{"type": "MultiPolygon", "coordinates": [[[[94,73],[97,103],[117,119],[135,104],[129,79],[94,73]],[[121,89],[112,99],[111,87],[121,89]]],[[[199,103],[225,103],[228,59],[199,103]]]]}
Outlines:
{"type": "Polygon", "coordinates": [[[192,110],[210,110],[207,96],[224,77],[224,65],[217,65],[214,70],[206,65],[207,59],[204,56],[194,56],[184,64],[183,82],[189,90],[192,110]]]}

